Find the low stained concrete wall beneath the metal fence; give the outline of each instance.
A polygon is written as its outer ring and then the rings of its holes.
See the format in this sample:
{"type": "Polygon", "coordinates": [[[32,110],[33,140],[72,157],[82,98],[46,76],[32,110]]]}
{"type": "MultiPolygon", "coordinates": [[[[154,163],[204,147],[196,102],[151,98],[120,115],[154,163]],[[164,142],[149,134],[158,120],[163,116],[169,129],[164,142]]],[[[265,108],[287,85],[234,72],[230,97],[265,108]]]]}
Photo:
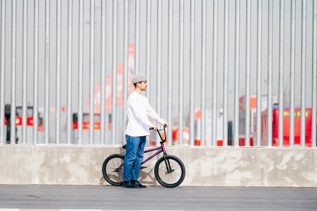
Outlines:
{"type": "MultiPolygon", "coordinates": [[[[148,149],[149,147],[146,147],[148,149]]],[[[317,148],[166,147],[185,164],[182,186],[317,187],[317,148]]],[[[108,185],[101,167],[119,146],[0,145],[1,184],[108,185]]],[[[157,159],[140,181],[159,185],[157,159]]]]}

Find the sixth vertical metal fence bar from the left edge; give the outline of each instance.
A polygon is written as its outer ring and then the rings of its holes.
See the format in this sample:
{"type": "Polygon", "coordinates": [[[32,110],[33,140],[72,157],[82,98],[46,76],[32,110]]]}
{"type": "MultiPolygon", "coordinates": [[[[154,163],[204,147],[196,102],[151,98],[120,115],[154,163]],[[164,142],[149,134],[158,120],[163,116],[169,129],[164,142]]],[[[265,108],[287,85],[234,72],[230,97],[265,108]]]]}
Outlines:
{"type": "MultiPolygon", "coordinates": [[[[61,0],[56,1],[56,109],[55,109],[55,143],[60,144],[61,130],[61,0]]],[[[68,108],[67,108],[68,109],[68,108]]]]}

